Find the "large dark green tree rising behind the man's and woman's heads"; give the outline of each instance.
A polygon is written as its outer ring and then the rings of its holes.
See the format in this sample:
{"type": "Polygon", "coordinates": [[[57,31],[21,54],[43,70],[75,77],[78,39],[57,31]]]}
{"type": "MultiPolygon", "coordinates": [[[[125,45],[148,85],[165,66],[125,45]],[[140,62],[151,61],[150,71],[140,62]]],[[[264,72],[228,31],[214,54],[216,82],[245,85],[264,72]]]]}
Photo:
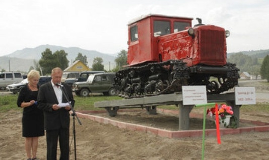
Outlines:
{"type": "Polygon", "coordinates": [[[69,61],[66,58],[68,54],[63,50],[56,51],[52,54],[50,49],[47,48],[41,55],[39,65],[43,75],[50,74],[54,67],[60,67],[62,70],[68,67],[69,61]]]}

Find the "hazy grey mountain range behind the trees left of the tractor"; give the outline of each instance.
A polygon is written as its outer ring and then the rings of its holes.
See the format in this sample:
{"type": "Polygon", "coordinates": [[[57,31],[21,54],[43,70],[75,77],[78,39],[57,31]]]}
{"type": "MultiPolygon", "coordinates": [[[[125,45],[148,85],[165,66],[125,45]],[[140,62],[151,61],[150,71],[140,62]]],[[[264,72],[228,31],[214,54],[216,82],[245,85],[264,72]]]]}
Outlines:
{"type": "MultiPolygon", "coordinates": [[[[88,67],[91,68],[93,60],[96,57],[101,57],[103,59],[103,65],[106,70],[115,68],[115,58],[117,54],[105,54],[94,50],[84,50],[78,47],[60,47],[53,45],[41,45],[35,48],[24,48],[22,50],[17,50],[11,54],[0,57],[0,69],[5,69],[6,71],[21,71],[28,72],[31,66],[34,66],[34,60],[39,61],[41,59],[41,53],[50,49],[52,53],[55,51],[64,50],[68,53],[68,60],[70,65],[72,65],[78,53],[87,56],[88,67]]],[[[120,52],[120,51],[119,51],[120,52]]]]}

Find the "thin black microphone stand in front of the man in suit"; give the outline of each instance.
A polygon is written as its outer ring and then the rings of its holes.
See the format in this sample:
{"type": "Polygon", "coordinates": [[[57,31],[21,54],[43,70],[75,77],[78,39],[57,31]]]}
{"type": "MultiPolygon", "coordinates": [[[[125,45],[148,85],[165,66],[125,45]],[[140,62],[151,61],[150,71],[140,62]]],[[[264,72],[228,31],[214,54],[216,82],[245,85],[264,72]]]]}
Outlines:
{"type": "Polygon", "coordinates": [[[75,150],[74,153],[75,153],[75,160],[77,160],[75,116],[76,116],[76,118],[78,119],[79,124],[82,125],[82,123],[81,123],[80,119],[78,118],[78,115],[76,114],[76,112],[75,112],[75,110],[74,110],[74,108],[73,108],[73,106],[72,106],[72,104],[71,104],[71,102],[70,102],[68,96],[66,95],[67,92],[66,92],[64,86],[63,86],[63,85],[59,85],[59,87],[60,87],[60,89],[61,89],[61,91],[62,91],[63,96],[64,96],[64,97],[66,98],[66,100],[68,101],[69,106],[71,107],[71,110],[72,110],[72,112],[73,112],[73,113],[72,113],[72,116],[73,116],[74,150],[75,150]]]}

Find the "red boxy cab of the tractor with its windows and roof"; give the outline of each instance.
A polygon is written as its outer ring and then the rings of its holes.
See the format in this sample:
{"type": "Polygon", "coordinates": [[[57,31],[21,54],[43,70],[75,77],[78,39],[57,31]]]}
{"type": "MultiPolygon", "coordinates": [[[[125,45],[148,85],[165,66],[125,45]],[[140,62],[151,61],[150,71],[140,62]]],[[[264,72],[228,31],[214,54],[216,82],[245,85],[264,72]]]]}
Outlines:
{"type": "Polygon", "coordinates": [[[160,62],[158,37],[191,27],[192,18],[146,15],[128,23],[129,66],[143,62],[160,62]]]}

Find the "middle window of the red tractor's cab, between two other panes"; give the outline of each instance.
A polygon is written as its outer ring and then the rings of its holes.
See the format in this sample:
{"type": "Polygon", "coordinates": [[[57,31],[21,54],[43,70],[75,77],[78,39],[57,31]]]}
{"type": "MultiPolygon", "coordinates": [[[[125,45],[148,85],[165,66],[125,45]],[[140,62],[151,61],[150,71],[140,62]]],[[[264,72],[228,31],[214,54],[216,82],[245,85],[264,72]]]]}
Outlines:
{"type": "Polygon", "coordinates": [[[154,21],[154,37],[170,34],[170,22],[154,21]]]}

